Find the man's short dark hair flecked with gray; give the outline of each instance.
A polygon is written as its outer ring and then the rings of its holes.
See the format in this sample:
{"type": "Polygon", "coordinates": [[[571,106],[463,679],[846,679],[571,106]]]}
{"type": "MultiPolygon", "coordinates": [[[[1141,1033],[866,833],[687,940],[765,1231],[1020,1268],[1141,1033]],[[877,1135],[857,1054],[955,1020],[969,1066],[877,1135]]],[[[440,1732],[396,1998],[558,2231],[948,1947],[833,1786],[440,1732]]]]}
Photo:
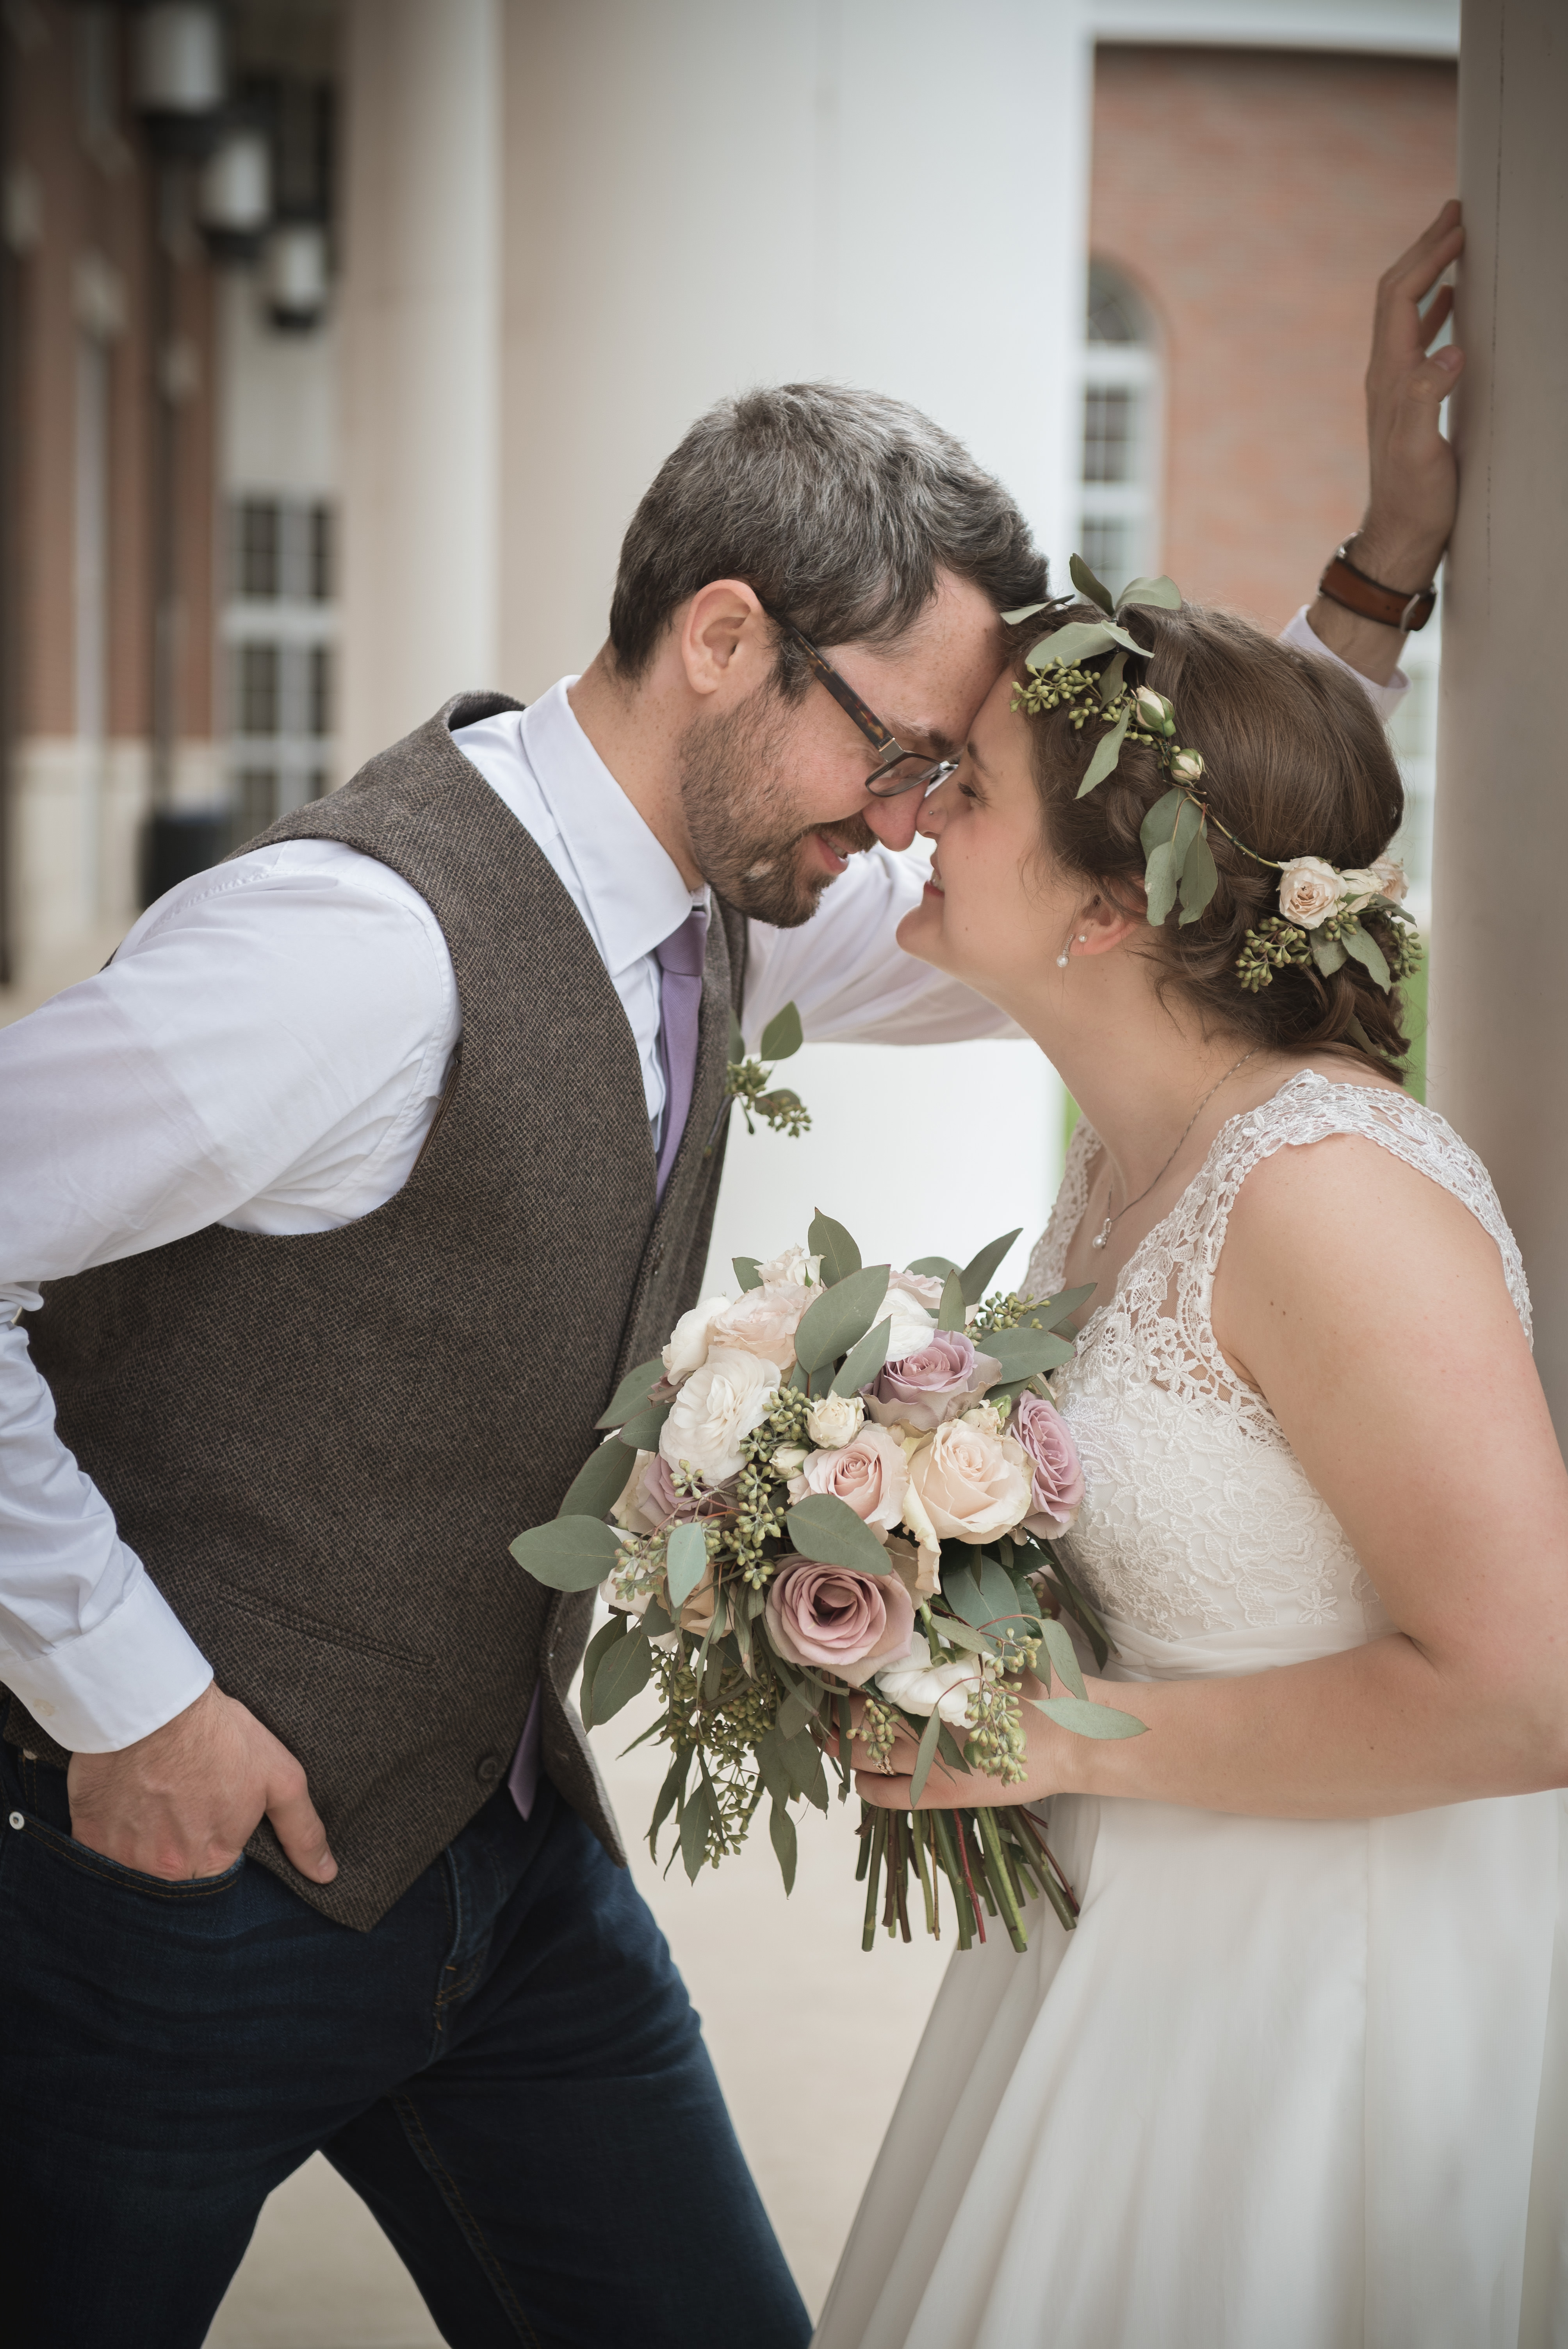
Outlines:
{"type": "MultiPolygon", "coordinates": [[[[932,599],[939,568],[998,611],[1047,592],[1014,500],[920,409],[836,383],[744,392],[697,418],[631,517],[610,604],[615,665],[641,677],[676,606],[723,578],[746,580],[812,644],[887,646],[932,599]]],[[[807,674],[782,658],[786,693],[807,674]]]]}

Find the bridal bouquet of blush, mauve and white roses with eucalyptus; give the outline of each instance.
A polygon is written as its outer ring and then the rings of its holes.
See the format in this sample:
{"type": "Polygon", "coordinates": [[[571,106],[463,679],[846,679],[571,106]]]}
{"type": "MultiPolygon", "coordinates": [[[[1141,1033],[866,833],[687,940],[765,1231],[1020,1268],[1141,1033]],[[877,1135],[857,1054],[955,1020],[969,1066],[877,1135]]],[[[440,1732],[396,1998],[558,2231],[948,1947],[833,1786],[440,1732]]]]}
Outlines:
{"type": "MultiPolygon", "coordinates": [[[[559,1517],[512,1543],[538,1581],[599,1583],[610,1604],[582,1665],[589,1727],[657,1682],[646,1736],[671,1762],[648,1842],[657,1856],[674,1823],[690,1877],[739,1849],[768,1795],[789,1891],[789,1806],[826,1811],[826,1762],[845,1799],[852,1734],[883,1766],[899,1731],[918,1741],[918,1799],[937,1762],[1016,1785],[1026,1703],[1082,1736],[1141,1729],[1087,1698],[1063,1618],[1099,1663],[1106,1635],[1052,1548],[1082,1470],[1045,1372],[1089,1290],[986,1297],[1014,1240],[892,1271],[819,1214],[807,1247],[737,1257],[739,1294],[704,1299],[627,1374],[559,1517]]],[[[941,1879],[960,1950],[986,1912],[1023,1950],[1033,1891],[1075,1919],[1023,1806],[864,1804],[859,1877],[866,1950],[878,1914],[911,1938],[915,1884],[939,1933],[941,1879]]]]}

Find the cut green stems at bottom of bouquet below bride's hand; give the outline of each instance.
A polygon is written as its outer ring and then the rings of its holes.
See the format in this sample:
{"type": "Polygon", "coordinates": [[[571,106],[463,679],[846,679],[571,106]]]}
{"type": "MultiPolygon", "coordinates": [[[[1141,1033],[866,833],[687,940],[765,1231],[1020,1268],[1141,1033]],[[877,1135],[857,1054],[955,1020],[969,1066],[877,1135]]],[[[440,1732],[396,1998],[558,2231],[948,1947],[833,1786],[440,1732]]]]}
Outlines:
{"type": "Polygon", "coordinates": [[[986,1910],[1000,1917],[1014,1950],[1028,1947],[1026,1907],[1049,1900],[1066,1933],[1077,1924],[1077,1898],[1052,1858],[1040,1823],[1021,1806],[974,1811],[885,1811],[861,1804],[857,1882],[866,1884],[861,1950],[887,1938],[913,1940],[908,1879],[920,1879],[925,1931],[941,1940],[939,1879],[946,1877],[958,1917],[958,1947],[986,1940],[986,1910]],[[927,1844],[930,1837],[930,1844],[927,1844]],[[927,1865],[930,1863],[930,1865],[927,1865]],[[883,1882],[883,1870],[887,1882],[883,1882]]]}

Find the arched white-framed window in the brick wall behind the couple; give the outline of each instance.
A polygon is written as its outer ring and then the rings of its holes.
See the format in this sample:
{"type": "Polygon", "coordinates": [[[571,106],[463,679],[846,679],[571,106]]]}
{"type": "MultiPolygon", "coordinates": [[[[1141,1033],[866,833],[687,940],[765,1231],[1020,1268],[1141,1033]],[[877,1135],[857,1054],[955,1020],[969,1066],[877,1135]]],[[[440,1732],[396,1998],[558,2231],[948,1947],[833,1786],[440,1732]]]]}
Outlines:
{"type": "Polygon", "coordinates": [[[1138,291],[1089,261],[1077,550],[1110,590],[1160,571],[1160,352],[1138,291]]]}

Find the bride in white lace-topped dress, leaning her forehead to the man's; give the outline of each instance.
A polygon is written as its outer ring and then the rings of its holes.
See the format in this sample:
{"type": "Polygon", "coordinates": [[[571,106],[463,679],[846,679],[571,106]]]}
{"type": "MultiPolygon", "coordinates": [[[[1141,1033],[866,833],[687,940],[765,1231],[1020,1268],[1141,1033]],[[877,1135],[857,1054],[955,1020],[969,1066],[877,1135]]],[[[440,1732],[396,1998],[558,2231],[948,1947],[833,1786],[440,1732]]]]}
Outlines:
{"type": "Polygon", "coordinates": [[[1145,918],[1157,747],[1077,796],[1103,728],[1016,709],[1019,665],[927,801],[899,937],[1084,1111],[1028,1287],[1094,1283],[1054,1379],[1087,1475],[1061,1550],[1115,1640],[1089,1694],[1145,1734],[1026,1708],[1026,1788],[927,1785],[1049,1799],[1082,1919],[953,1961],[817,2349],[1547,2349],[1568,1478],[1519,1250],[1401,1090],[1397,994],[1354,958],[1237,970],[1270,860],[1401,888],[1366,698],[1218,613],[1124,618],[1204,761],[1207,909],[1145,918]]]}

